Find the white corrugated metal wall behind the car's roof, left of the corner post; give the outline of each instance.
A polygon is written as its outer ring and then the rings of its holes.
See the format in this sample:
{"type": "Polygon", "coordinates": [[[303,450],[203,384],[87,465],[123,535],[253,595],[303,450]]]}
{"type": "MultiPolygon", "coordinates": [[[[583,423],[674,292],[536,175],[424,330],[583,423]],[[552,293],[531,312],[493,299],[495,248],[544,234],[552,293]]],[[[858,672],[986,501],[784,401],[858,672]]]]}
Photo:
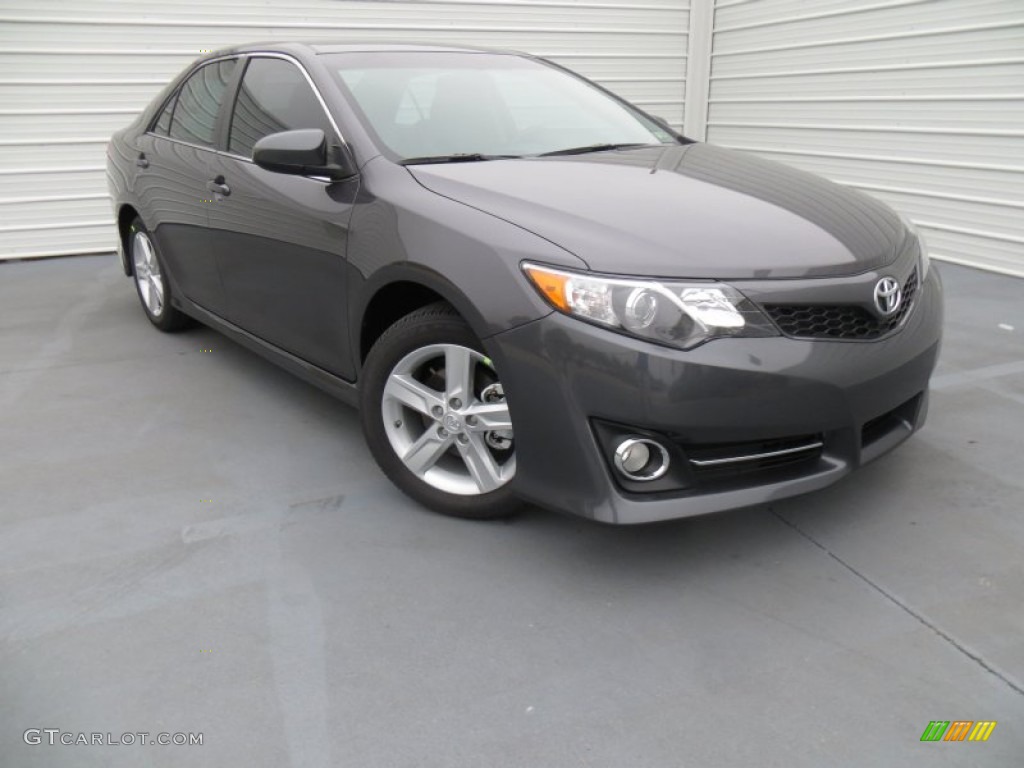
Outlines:
{"type": "Polygon", "coordinates": [[[110,251],[103,150],[203,49],[434,41],[550,56],[682,125],[688,0],[4,0],[0,258],[110,251]]]}

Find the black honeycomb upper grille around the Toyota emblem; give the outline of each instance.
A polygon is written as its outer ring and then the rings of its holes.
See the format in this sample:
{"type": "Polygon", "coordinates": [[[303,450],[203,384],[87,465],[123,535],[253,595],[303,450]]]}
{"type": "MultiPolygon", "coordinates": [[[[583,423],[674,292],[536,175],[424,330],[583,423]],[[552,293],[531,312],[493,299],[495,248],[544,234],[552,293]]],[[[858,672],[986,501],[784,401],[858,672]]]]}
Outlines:
{"type": "Polygon", "coordinates": [[[916,293],[918,270],[914,269],[902,286],[899,309],[890,317],[878,317],[856,304],[765,304],[764,308],[786,336],[871,341],[902,325],[916,293]]]}

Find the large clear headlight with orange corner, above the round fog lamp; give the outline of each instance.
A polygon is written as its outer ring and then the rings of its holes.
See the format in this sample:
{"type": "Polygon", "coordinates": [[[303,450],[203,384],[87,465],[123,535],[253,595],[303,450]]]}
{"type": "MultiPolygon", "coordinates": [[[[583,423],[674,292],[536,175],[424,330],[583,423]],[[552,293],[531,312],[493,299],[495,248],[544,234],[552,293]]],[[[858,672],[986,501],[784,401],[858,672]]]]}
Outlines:
{"type": "Polygon", "coordinates": [[[723,283],[606,278],[524,263],[555,309],[647,341],[690,349],[724,336],[778,336],[739,291],[723,283]]]}

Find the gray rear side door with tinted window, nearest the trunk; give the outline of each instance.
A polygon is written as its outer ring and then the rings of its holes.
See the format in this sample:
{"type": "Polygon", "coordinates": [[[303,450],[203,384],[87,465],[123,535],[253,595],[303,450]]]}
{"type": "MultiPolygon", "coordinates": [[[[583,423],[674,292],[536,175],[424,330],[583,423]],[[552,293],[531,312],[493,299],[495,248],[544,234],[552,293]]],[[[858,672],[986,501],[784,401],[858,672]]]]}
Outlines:
{"type": "Polygon", "coordinates": [[[225,310],[224,292],[207,234],[213,201],[208,183],[221,102],[238,66],[237,58],[225,58],[193,73],[139,137],[134,158],[143,223],[175,285],[218,314],[225,310]]]}

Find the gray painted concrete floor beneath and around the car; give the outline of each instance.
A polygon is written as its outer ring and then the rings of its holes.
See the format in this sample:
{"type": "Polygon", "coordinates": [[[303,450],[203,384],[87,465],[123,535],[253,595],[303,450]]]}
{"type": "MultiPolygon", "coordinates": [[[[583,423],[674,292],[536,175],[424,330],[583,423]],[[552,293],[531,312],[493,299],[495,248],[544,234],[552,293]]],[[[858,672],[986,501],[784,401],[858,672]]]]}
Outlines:
{"type": "Polygon", "coordinates": [[[353,411],[158,333],[114,256],[0,263],[0,766],[1021,765],[1024,282],[942,271],[914,439],[612,528],[426,513],[353,411]]]}

